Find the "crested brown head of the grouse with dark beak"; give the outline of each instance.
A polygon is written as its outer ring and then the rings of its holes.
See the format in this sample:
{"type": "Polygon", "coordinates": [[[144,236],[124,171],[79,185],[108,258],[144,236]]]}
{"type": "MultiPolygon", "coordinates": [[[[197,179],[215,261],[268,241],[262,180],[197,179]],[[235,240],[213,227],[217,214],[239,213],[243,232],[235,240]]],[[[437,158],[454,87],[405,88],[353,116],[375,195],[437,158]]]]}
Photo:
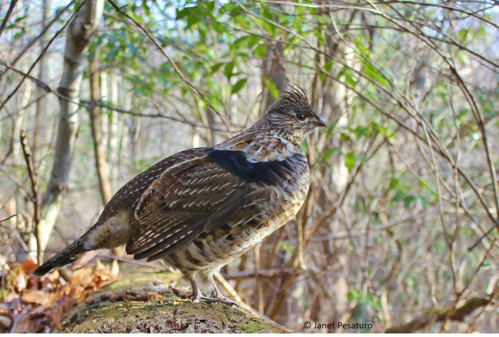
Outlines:
{"type": "Polygon", "coordinates": [[[263,117],[279,136],[301,144],[315,127],[326,127],[326,123],[313,111],[304,93],[284,91],[263,117]]]}

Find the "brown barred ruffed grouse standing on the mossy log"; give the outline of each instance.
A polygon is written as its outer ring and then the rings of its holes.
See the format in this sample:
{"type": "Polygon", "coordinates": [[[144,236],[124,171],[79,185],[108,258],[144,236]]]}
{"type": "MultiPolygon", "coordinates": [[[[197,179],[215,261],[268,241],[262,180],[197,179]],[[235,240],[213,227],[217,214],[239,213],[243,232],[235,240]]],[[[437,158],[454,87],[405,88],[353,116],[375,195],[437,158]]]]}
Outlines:
{"type": "Polygon", "coordinates": [[[163,259],[191,282],[196,302],[232,304],[213,273],[298,212],[310,173],[300,144],[326,126],[304,94],[284,92],[243,133],[212,148],[182,151],[121,187],[99,220],[34,271],[44,275],[86,251],[126,244],[128,254],[163,259]],[[209,284],[211,297],[196,282],[209,284]]]}

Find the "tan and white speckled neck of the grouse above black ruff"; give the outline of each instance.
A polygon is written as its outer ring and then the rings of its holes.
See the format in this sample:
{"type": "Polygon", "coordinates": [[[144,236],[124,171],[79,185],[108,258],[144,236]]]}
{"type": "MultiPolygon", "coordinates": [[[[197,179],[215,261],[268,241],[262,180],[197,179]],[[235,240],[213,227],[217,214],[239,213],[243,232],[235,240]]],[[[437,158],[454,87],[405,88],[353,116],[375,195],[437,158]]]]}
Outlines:
{"type": "Polygon", "coordinates": [[[215,150],[241,151],[250,163],[283,161],[302,154],[300,146],[290,142],[264,120],[214,147],[215,150]]]}

